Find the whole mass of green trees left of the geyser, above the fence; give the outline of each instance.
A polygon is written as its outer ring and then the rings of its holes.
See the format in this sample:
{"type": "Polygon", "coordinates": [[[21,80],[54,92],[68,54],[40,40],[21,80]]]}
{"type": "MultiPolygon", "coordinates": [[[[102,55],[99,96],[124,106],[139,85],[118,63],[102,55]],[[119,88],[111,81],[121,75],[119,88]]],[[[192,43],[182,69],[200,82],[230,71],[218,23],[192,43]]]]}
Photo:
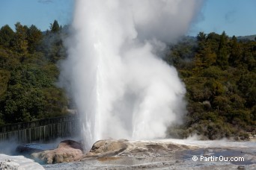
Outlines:
{"type": "Polygon", "coordinates": [[[52,53],[54,61],[48,53],[52,48],[64,51],[61,34],[43,35],[36,26],[19,22],[15,27],[13,33],[7,25],[0,30],[0,43],[6,40],[0,44],[0,125],[66,114],[67,97],[55,86],[55,63],[65,53],[52,53]],[[45,45],[49,37],[58,45],[45,45]]]}

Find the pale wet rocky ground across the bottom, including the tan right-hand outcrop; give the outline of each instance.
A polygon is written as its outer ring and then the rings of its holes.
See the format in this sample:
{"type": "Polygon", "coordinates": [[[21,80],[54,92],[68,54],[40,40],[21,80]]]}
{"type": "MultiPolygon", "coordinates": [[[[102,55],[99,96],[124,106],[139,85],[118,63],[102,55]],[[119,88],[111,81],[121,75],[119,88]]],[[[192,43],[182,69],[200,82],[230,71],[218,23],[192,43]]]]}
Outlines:
{"type": "Polygon", "coordinates": [[[256,169],[256,143],[178,139],[101,140],[94,144],[90,153],[85,154],[80,162],[44,165],[43,167],[76,170],[256,169]],[[194,156],[198,160],[192,160],[194,156]],[[237,161],[230,162],[231,159],[237,161]]]}

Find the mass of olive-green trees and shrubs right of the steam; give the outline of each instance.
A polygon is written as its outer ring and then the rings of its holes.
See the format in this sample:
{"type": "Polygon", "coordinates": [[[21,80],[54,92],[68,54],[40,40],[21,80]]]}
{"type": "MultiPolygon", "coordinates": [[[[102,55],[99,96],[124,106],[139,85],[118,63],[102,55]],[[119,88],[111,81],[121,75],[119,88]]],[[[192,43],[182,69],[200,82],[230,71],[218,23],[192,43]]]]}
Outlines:
{"type": "Polygon", "coordinates": [[[172,126],[169,136],[202,139],[249,139],[256,133],[256,42],[237,41],[225,32],[200,32],[194,42],[178,42],[166,56],[186,84],[188,113],[183,126],[172,126]],[[197,48],[191,48],[197,43],[197,48]],[[190,48],[186,65],[183,51],[190,48]],[[177,52],[178,51],[178,52],[177,52]]]}

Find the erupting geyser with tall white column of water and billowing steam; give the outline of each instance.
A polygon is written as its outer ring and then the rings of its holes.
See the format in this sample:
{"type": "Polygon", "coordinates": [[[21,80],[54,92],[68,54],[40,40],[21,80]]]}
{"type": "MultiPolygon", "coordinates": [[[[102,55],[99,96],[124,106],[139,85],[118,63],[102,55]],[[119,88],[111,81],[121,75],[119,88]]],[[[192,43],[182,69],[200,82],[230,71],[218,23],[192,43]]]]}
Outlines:
{"type": "Polygon", "coordinates": [[[159,51],[186,33],[201,0],[76,0],[61,81],[98,139],[153,139],[185,113],[186,92],[159,51]]]}

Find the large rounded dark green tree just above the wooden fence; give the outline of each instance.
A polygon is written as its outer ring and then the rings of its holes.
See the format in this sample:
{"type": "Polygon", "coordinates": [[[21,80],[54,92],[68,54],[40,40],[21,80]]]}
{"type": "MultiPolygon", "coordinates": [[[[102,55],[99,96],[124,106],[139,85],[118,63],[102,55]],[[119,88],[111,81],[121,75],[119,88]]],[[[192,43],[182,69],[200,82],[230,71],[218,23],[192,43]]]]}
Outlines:
{"type": "Polygon", "coordinates": [[[23,63],[11,72],[0,104],[5,122],[28,122],[63,115],[67,99],[47,73],[31,63],[23,63]]]}

